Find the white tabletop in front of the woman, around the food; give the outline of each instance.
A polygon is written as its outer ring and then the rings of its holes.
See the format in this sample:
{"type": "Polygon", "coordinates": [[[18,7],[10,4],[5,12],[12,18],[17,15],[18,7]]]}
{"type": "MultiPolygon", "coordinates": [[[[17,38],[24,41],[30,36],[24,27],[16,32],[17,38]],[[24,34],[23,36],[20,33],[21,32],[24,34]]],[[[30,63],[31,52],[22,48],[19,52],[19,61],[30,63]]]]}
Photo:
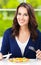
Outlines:
{"type": "Polygon", "coordinates": [[[0,65],[41,65],[41,60],[30,59],[28,62],[12,63],[4,59],[0,61],[0,65]]]}

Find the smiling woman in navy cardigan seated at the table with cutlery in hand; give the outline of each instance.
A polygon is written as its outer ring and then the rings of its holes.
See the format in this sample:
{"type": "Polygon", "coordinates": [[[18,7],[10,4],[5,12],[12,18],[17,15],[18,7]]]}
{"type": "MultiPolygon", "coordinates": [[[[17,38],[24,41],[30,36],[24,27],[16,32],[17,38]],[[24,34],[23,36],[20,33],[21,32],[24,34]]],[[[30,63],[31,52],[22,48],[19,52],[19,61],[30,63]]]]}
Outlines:
{"type": "Polygon", "coordinates": [[[21,3],[16,10],[12,28],[4,33],[0,59],[12,53],[13,57],[41,59],[41,33],[32,6],[21,3]],[[33,47],[35,52],[29,47],[33,47]]]}

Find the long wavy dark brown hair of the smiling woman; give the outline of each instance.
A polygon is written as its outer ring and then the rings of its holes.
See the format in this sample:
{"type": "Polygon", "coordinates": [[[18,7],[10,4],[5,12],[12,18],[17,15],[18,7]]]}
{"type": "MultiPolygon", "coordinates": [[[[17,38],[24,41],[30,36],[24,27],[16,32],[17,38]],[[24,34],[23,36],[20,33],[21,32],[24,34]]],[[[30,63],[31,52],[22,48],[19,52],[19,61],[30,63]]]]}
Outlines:
{"type": "Polygon", "coordinates": [[[19,35],[20,26],[19,26],[19,24],[17,22],[17,14],[18,14],[19,7],[25,7],[27,9],[27,12],[28,12],[28,15],[29,15],[28,28],[29,28],[30,33],[31,33],[31,38],[33,40],[35,40],[37,38],[37,36],[38,36],[38,34],[36,32],[38,24],[36,22],[34,9],[29,3],[24,3],[24,2],[21,3],[17,7],[16,14],[15,14],[15,17],[14,17],[14,20],[13,20],[12,36],[15,37],[15,36],[19,35]]]}

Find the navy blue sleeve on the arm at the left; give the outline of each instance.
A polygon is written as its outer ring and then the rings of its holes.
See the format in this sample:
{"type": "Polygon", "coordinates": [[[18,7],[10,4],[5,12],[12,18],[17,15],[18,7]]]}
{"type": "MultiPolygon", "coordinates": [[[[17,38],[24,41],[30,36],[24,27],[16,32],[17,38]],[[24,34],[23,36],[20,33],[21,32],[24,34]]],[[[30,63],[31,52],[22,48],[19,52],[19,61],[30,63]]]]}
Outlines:
{"type": "Polygon", "coordinates": [[[8,35],[8,31],[6,31],[3,36],[1,53],[5,55],[8,54],[8,51],[9,51],[9,35],[8,35]]]}

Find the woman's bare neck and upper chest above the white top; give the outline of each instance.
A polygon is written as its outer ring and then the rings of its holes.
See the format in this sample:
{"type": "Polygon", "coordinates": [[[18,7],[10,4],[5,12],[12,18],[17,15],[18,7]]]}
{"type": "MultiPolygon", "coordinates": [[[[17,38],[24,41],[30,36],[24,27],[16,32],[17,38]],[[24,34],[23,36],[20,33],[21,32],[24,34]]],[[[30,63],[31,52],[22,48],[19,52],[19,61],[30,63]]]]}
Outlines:
{"type": "Polygon", "coordinates": [[[24,43],[30,37],[30,31],[27,27],[21,27],[19,31],[18,39],[24,43]]]}

